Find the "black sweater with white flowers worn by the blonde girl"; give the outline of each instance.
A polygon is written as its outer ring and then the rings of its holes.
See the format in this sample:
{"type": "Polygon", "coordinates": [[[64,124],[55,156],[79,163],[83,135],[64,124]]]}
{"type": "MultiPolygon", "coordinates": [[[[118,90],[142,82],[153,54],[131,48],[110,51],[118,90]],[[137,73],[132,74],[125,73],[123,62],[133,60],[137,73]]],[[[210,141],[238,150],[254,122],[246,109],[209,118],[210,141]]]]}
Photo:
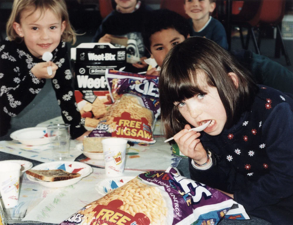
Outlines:
{"type": "MultiPolygon", "coordinates": [[[[80,124],[81,116],[74,98],[72,75],[65,42],[60,42],[52,52],[59,68],[52,81],[62,118],[69,123],[71,138],[81,136],[86,129],[80,124]]],[[[0,43],[0,129],[1,134],[9,129],[11,117],[20,113],[44,87],[46,79],[37,79],[30,69],[44,62],[34,57],[24,42],[4,40],[0,43]]],[[[44,112],[45,113],[45,112],[44,112]]]]}

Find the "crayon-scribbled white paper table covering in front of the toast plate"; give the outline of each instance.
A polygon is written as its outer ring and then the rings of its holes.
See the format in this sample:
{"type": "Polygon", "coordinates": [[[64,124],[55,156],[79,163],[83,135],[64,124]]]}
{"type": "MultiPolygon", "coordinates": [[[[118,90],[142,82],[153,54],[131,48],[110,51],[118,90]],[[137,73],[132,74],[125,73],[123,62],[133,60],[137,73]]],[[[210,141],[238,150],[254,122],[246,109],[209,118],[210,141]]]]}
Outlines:
{"type": "MultiPolygon", "coordinates": [[[[127,178],[127,182],[140,173],[142,171],[125,171],[120,180],[127,178]]],[[[86,204],[105,195],[95,185],[109,179],[111,178],[106,177],[104,169],[93,168],[93,173],[76,184],[49,188],[28,180],[24,174],[20,183],[19,204],[13,209],[5,209],[6,222],[26,224],[28,221],[38,221],[59,224],[86,204]]]]}

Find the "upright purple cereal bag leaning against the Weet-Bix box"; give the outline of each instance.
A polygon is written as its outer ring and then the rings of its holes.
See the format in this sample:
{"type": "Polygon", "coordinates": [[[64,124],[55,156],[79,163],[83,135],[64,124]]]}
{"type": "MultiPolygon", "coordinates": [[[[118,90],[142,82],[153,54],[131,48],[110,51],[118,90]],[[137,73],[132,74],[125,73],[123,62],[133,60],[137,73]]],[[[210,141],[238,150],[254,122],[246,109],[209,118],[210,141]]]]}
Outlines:
{"type": "Polygon", "coordinates": [[[89,137],[122,137],[134,143],[155,143],[154,124],[160,114],[158,77],[107,70],[114,104],[100,119],[86,118],[94,127],[89,137]]]}

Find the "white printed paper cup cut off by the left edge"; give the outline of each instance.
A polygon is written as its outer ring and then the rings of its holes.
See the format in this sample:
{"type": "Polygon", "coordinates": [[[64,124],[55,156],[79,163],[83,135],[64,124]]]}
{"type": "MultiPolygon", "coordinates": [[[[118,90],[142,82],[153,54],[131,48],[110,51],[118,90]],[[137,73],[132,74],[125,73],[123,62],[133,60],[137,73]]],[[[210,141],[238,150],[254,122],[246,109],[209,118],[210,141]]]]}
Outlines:
{"type": "Polygon", "coordinates": [[[5,208],[18,204],[20,170],[18,163],[0,161],[0,194],[5,208]]]}

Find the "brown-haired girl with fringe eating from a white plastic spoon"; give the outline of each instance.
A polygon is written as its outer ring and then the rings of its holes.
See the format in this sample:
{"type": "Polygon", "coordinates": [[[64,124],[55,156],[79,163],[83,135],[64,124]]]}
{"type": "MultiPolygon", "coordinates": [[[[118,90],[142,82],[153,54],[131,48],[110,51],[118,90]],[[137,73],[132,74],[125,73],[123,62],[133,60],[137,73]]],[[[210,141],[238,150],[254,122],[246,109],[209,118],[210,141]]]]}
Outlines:
{"type": "Polygon", "coordinates": [[[293,99],[256,85],[214,42],[186,39],[161,67],[161,121],[189,157],[193,180],[222,190],[250,215],[293,223],[293,99]],[[211,120],[202,132],[188,130],[211,120]]]}

